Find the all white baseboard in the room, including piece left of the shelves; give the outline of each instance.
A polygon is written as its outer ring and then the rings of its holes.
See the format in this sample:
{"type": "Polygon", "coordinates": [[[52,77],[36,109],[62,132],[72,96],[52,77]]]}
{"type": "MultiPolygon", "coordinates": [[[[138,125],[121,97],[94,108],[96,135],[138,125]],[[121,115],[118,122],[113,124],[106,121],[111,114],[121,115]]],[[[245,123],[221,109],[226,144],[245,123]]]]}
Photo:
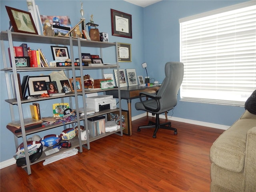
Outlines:
{"type": "MultiPolygon", "coordinates": [[[[132,121],[142,118],[146,115],[147,115],[147,113],[145,112],[143,114],[134,116],[134,117],[132,117],[132,121]]],[[[160,115],[159,117],[165,119],[164,115],[160,115]]],[[[206,127],[222,129],[222,130],[227,130],[230,127],[230,126],[226,126],[226,125],[220,125],[220,124],[214,124],[214,123],[208,123],[208,122],[202,122],[202,121],[196,121],[196,120],[190,120],[190,119],[184,119],[184,118],[178,118],[178,117],[171,117],[171,116],[167,116],[167,117],[169,120],[173,120],[173,121],[184,122],[184,123],[200,125],[200,126],[206,126],[206,127]]],[[[16,160],[14,158],[0,162],[0,169],[8,167],[13,164],[16,164],[16,160]]]]}

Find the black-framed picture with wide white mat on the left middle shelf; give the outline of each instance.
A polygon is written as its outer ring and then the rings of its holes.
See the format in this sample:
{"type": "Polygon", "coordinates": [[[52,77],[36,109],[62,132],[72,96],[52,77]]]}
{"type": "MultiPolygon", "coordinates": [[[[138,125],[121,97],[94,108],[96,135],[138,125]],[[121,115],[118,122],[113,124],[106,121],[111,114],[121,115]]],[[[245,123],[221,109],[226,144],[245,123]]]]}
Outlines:
{"type": "Polygon", "coordinates": [[[41,95],[47,93],[46,82],[50,82],[50,75],[30,76],[28,78],[28,95],[41,95]]]}

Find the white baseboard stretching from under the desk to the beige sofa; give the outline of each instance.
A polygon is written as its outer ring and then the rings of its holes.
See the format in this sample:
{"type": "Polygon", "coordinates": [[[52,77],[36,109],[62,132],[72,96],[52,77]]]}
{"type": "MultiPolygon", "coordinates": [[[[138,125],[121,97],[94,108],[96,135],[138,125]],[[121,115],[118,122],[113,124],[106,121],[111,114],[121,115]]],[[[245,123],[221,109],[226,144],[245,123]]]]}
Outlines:
{"type": "MultiPolygon", "coordinates": [[[[147,113],[143,113],[137,116],[132,117],[132,121],[142,118],[146,116],[147,113]]],[[[165,115],[159,115],[160,118],[165,119],[165,115]]],[[[220,124],[215,124],[215,123],[208,123],[208,122],[202,122],[202,121],[196,121],[196,120],[191,120],[191,119],[184,119],[184,118],[178,118],[178,117],[171,117],[167,116],[168,120],[173,120],[173,121],[178,121],[178,122],[183,122],[183,123],[189,123],[189,124],[194,124],[194,125],[200,125],[200,126],[206,126],[210,128],[216,128],[216,129],[222,129],[222,130],[227,130],[230,128],[230,126],[226,125],[220,125],[220,124]]]]}

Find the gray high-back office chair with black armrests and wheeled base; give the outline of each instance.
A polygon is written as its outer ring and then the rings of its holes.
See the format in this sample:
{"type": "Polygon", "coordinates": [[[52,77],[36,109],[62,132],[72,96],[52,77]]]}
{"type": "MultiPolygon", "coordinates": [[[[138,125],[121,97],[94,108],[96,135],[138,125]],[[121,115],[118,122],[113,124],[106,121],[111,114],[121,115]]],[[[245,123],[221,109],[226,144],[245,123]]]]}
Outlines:
{"type": "Polygon", "coordinates": [[[138,132],[143,128],[155,128],[153,138],[156,138],[156,132],[159,128],[174,130],[174,134],[177,134],[177,129],[171,127],[171,122],[160,124],[159,114],[169,111],[176,106],[178,90],[184,75],[184,65],[181,62],[167,62],[164,71],[165,78],[157,94],[140,92],[140,102],[135,103],[136,110],[144,110],[156,114],[156,122],[150,121],[148,125],[138,127],[138,132]],[[144,96],[147,96],[149,99],[142,100],[144,96]]]}

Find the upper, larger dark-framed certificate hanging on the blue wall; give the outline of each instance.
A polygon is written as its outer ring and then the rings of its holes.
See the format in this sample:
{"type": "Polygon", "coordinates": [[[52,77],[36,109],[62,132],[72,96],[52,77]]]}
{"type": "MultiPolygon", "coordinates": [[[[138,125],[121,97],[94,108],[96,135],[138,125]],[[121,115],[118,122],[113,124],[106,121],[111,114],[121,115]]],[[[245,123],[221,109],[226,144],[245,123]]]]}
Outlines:
{"type": "Polygon", "coordinates": [[[111,9],[112,35],[132,38],[132,15],[111,9]]]}

